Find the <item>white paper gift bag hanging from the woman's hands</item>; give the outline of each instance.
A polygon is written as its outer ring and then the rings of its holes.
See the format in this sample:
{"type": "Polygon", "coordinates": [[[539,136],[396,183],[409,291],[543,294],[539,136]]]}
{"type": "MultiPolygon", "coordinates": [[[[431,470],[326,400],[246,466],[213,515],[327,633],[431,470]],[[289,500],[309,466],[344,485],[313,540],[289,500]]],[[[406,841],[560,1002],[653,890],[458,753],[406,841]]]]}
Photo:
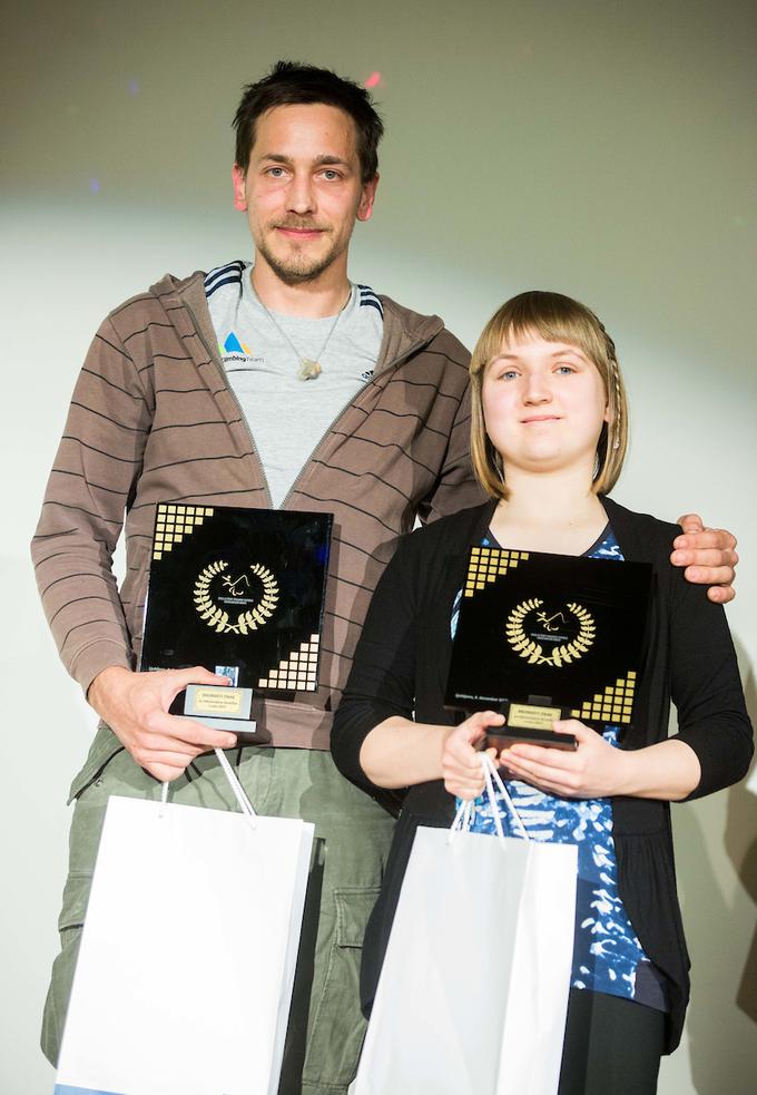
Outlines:
{"type": "Polygon", "coordinates": [[[554,1095],[576,876],[571,844],[419,828],[351,1095],[554,1095]]]}

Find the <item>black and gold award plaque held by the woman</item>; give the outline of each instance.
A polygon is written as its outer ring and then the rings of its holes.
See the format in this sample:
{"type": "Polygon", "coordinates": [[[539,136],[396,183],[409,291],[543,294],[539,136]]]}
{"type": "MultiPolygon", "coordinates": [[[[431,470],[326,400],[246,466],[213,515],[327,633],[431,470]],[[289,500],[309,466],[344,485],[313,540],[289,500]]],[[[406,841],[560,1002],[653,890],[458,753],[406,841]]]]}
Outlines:
{"type": "Polygon", "coordinates": [[[557,718],[630,725],[651,567],[473,547],[445,704],[505,716],[492,744],[574,749],[557,718]]]}

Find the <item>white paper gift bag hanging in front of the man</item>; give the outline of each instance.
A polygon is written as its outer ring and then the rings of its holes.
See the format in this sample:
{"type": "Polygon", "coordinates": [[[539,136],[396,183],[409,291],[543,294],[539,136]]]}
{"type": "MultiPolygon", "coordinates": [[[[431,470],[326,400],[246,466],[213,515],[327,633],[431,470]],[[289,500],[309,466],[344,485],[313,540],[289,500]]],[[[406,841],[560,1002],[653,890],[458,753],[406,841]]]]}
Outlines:
{"type": "Polygon", "coordinates": [[[56,1095],[275,1095],[313,825],[250,811],[109,800],[56,1095]]]}

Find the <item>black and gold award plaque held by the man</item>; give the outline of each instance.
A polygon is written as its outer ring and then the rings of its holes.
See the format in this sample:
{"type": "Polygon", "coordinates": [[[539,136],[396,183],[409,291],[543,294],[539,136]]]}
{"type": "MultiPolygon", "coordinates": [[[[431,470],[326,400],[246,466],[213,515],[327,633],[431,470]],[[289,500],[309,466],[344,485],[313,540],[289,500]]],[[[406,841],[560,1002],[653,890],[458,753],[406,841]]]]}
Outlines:
{"type": "Polygon", "coordinates": [[[204,665],[230,681],[190,685],[173,713],[244,740],[253,692],[317,691],[332,524],[331,514],[157,507],[140,668],[204,665]]]}

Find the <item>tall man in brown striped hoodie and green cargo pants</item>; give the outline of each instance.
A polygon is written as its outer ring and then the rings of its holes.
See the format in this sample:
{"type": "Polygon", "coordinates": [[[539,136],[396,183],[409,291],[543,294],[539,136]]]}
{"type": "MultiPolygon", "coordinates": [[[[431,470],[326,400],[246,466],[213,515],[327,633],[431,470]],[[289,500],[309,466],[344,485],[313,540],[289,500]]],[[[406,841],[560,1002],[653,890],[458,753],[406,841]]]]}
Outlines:
{"type": "MultiPolygon", "coordinates": [[[[468,354],[438,317],[348,281],[350,237],[378,182],[383,127],[366,91],[279,63],[245,90],[235,126],[235,204],[255,265],[167,276],[110,313],[77,383],[33,541],[61,657],[102,720],[71,788],[62,949],[42,1046],[55,1060],[109,794],[156,796],[156,781],[171,780],[174,801],[233,808],[207,751],[232,747],[234,735],[168,714],[188,683],[222,678],[134,672],[156,503],[322,510],[335,524],[319,691],[266,702],[260,745],[235,760],[257,810],[316,827],[281,1091],[335,1095],[360,1050],[360,947],[392,821],[337,775],[332,711],[397,536],[416,516],[481,498],[468,459],[468,354]],[[110,558],[122,527],[118,590],[110,558]]],[[[708,567],[699,580],[729,581],[734,542],[694,532],[675,561],[708,567]]]]}

